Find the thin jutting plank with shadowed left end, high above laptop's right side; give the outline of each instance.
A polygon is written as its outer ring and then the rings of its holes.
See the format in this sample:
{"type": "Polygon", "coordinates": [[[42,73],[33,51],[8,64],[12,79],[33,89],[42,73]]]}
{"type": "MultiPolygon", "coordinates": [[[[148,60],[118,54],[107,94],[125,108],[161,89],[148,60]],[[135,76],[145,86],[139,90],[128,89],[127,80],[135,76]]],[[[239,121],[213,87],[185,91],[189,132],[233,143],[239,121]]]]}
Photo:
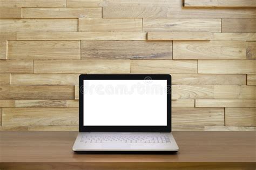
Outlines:
{"type": "Polygon", "coordinates": [[[210,32],[147,32],[147,40],[211,40],[210,32]]]}

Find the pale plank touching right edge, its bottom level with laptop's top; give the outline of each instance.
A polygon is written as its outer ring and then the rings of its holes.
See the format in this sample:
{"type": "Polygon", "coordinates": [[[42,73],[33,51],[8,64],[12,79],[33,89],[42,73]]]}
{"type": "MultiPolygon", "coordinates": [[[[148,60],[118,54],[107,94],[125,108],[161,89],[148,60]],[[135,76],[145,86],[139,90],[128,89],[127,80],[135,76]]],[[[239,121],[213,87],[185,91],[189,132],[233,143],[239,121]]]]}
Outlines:
{"type": "Polygon", "coordinates": [[[255,74],[256,60],[198,60],[199,74],[255,74]]]}

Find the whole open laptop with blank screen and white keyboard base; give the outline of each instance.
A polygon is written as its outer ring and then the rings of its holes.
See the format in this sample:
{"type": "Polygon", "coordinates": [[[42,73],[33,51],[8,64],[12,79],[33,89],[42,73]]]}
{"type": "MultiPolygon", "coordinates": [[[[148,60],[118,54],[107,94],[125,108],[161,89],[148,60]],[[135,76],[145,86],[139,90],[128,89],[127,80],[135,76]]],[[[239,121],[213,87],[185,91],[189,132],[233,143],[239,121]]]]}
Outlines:
{"type": "Polygon", "coordinates": [[[77,153],[173,153],[171,75],[79,76],[77,153]]]}

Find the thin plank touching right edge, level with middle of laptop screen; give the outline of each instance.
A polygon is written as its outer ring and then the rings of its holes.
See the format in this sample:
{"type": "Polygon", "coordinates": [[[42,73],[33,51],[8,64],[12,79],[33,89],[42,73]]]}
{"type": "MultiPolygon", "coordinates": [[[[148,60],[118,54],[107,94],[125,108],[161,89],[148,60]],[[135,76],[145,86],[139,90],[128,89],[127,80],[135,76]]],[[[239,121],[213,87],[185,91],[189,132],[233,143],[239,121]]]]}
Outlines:
{"type": "Polygon", "coordinates": [[[256,108],[256,100],[250,99],[198,99],[197,108],[256,108]]]}

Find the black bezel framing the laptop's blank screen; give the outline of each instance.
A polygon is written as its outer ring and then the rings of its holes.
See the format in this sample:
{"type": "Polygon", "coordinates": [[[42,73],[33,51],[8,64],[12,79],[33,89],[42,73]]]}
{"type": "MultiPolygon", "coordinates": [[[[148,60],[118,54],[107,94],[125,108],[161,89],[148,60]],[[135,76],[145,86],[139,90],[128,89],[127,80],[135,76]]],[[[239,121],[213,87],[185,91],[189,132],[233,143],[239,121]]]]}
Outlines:
{"type": "Polygon", "coordinates": [[[79,132],[171,132],[170,74],[81,74],[79,76],[79,132]],[[84,126],[84,80],[167,80],[167,126],[84,126]]]}

